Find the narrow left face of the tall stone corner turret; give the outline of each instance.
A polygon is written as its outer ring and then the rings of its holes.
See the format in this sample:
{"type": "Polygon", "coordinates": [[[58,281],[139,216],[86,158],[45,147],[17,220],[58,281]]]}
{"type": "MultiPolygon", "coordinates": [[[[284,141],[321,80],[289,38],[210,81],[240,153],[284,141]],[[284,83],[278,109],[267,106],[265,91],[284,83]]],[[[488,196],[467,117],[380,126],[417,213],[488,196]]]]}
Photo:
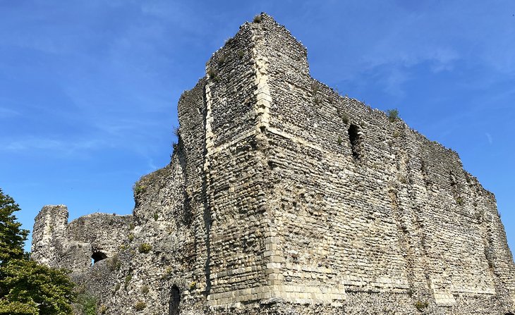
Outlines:
{"type": "Polygon", "coordinates": [[[210,305],[262,299],[267,284],[254,36],[253,25],[243,25],[206,65],[210,305]]]}

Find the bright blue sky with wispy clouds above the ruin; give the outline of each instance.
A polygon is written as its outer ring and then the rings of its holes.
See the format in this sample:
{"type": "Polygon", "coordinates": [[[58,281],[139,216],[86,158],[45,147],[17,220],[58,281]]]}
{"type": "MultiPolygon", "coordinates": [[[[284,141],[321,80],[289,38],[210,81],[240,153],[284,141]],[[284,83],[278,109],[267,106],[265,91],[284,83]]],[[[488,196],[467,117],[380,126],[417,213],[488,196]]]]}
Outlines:
{"type": "Polygon", "coordinates": [[[135,180],[169,162],[181,92],[261,11],[314,78],[458,152],[515,249],[511,0],[0,0],[0,187],[24,228],[44,204],[131,213],[135,180]]]}

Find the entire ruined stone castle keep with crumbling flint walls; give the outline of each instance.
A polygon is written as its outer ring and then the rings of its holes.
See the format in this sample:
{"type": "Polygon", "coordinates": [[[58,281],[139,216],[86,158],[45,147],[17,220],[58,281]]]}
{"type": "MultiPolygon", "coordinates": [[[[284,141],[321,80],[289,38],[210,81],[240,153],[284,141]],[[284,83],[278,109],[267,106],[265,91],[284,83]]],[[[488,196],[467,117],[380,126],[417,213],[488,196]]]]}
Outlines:
{"type": "Polygon", "coordinates": [[[32,257],[104,314],[514,311],[494,195],[306,56],[266,14],[241,25],[183,93],[171,163],[135,184],[133,214],[44,206],[32,257]]]}

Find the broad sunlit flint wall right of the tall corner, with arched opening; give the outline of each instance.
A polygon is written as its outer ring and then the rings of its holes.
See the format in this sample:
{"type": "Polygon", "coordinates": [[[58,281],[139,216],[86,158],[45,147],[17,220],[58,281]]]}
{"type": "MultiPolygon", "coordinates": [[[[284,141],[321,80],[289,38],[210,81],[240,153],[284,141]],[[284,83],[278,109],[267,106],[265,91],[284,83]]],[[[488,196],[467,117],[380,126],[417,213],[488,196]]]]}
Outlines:
{"type": "MultiPolygon", "coordinates": [[[[490,270],[491,236],[474,224],[498,224],[495,201],[463,171],[457,154],[339,97],[310,78],[305,49],[284,27],[261,30],[260,54],[270,61],[266,135],[269,174],[279,184],[273,199],[282,216],[277,243],[284,260],[277,266],[284,295],[334,301],[331,292],[344,285],[351,292],[419,291],[422,298],[428,289],[437,305],[450,306],[455,295],[490,301],[495,282],[513,288],[511,254],[497,252],[510,271],[490,270]],[[429,192],[421,181],[432,183],[429,192]],[[322,292],[309,294],[310,283],[322,292]],[[416,288],[420,283],[426,288],[416,288]]],[[[505,238],[502,229],[486,230],[505,238]]],[[[513,292],[510,298],[497,291],[499,309],[504,300],[512,303],[513,292]]]]}

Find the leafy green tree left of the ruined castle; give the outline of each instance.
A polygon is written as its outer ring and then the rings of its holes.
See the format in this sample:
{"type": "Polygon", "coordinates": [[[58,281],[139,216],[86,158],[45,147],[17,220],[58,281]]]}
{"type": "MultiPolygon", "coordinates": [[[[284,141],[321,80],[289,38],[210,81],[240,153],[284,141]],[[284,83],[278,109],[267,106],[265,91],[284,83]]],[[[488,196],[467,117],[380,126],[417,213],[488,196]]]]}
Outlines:
{"type": "Polygon", "coordinates": [[[20,207],[0,190],[0,315],[72,314],[73,282],[66,271],[37,264],[23,252],[28,230],[20,207]]]}

